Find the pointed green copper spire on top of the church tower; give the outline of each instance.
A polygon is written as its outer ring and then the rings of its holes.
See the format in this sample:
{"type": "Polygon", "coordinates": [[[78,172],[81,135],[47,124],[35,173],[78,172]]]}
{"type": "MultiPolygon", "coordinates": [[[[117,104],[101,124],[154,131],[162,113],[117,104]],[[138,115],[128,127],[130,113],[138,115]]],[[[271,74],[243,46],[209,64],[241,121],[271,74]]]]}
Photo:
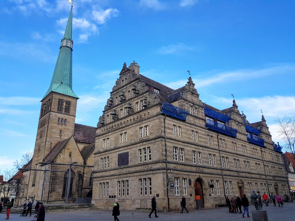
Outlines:
{"type": "Polygon", "coordinates": [[[72,9],[68,19],[65,34],[61,39],[60,51],[55,64],[50,86],[42,100],[51,92],[79,98],[72,90],[72,9]]]}

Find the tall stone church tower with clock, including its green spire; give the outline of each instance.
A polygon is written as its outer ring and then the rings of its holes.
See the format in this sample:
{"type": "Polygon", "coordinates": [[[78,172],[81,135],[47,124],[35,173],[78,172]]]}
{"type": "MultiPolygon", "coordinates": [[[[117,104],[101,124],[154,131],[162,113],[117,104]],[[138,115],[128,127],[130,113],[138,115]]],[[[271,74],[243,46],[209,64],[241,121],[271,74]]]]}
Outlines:
{"type": "MultiPolygon", "coordinates": [[[[74,133],[78,96],[72,90],[72,9],[50,86],[42,98],[32,169],[60,141],[74,133]]],[[[35,173],[36,174],[36,173],[35,173]]],[[[36,178],[36,175],[35,175],[36,178]]],[[[35,184],[33,179],[33,185],[35,184]]]]}

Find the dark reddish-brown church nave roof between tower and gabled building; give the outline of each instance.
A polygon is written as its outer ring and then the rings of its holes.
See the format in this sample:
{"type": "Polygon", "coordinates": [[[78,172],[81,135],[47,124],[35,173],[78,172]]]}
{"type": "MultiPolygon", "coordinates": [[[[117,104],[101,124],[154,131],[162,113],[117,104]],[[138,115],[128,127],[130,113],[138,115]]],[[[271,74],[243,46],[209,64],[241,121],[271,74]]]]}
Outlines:
{"type": "Polygon", "coordinates": [[[76,142],[92,144],[95,142],[96,127],[75,123],[74,139],[76,142]]]}

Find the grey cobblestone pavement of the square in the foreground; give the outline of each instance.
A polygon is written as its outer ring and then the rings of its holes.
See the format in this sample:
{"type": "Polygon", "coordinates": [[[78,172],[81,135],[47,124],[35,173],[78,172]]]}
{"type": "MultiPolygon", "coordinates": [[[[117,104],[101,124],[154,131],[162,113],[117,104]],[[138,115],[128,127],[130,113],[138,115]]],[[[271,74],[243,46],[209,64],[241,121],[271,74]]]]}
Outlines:
{"type": "MultiPolygon", "coordinates": [[[[243,207],[242,207],[243,208],[243,207]]],[[[295,220],[295,203],[285,203],[283,207],[274,207],[269,204],[268,207],[263,206],[263,209],[267,211],[268,221],[293,221],[295,220]]],[[[152,214],[152,218],[148,217],[150,210],[135,210],[135,211],[120,211],[118,217],[120,221],[234,221],[244,220],[252,221],[251,211],[255,210],[253,205],[249,206],[249,214],[251,218],[243,218],[242,214],[229,213],[227,207],[214,208],[214,209],[202,209],[202,210],[189,210],[189,213],[180,214],[179,212],[158,212],[159,218],[155,218],[152,214]]],[[[0,214],[0,220],[5,220],[6,214],[3,212],[0,214]]],[[[34,216],[20,217],[19,214],[10,214],[9,221],[31,221],[34,216]]],[[[91,210],[91,211],[77,211],[77,212],[59,212],[48,213],[45,215],[45,221],[112,221],[112,211],[104,210],[91,210]]]]}

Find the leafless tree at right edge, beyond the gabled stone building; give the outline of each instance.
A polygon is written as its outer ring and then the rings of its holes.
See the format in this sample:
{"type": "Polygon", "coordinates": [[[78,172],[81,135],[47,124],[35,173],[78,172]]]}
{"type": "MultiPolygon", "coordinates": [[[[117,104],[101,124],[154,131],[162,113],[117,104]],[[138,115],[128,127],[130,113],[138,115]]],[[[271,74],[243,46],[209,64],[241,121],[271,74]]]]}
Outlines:
{"type": "Polygon", "coordinates": [[[295,116],[284,116],[276,118],[278,124],[277,133],[287,152],[290,152],[295,159],[295,116]]]}

